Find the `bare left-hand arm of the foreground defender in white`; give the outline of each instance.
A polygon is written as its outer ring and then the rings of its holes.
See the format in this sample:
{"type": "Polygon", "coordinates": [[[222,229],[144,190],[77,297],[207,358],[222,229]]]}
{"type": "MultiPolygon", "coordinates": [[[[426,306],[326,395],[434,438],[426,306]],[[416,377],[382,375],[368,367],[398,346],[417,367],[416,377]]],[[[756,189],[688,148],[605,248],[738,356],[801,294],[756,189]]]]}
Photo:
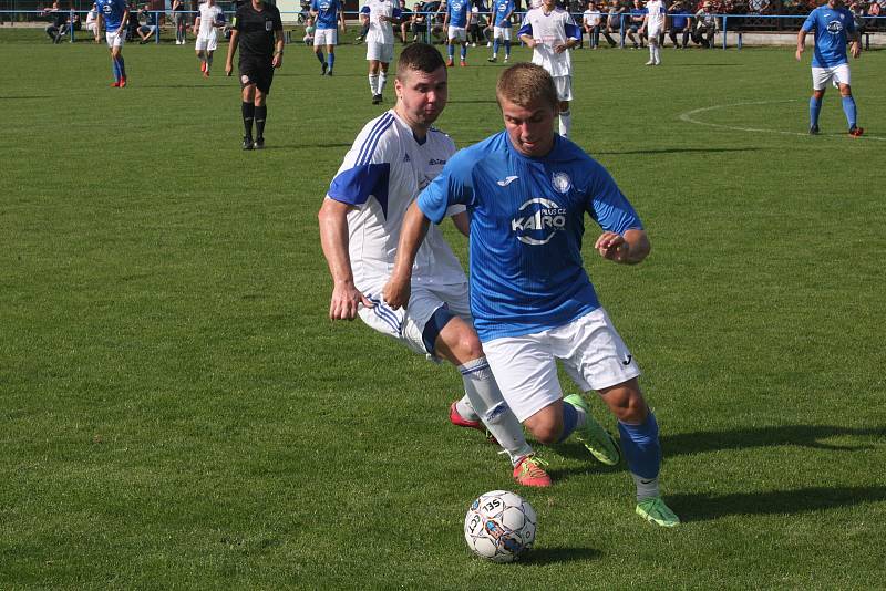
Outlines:
{"type": "Polygon", "coordinates": [[[351,205],[327,198],[317,216],[320,222],[320,245],[332,276],[330,320],[353,320],[361,304],[373,307],[353,284],[351,258],[348,255],[348,211],[352,208],[351,205]]]}

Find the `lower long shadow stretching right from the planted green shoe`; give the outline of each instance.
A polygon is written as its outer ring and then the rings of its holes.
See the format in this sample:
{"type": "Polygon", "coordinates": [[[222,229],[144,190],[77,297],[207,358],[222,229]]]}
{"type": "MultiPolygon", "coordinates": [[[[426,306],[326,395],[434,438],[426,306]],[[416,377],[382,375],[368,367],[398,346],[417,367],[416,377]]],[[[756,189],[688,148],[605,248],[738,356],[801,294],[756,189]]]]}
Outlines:
{"type": "Polygon", "coordinates": [[[886,500],[875,486],[810,487],[732,495],[668,495],[668,505],[683,521],[710,521],[730,515],[796,515],[886,500]]]}

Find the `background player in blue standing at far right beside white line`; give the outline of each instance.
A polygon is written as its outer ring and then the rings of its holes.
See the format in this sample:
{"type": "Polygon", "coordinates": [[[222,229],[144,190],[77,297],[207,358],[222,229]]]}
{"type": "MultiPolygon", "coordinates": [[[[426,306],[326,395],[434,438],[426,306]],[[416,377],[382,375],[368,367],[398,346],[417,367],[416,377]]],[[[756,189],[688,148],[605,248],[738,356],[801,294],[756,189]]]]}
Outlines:
{"type": "Polygon", "coordinates": [[[849,135],[858,137],[864,133],[856,124],[857,110],[852,96],[849,62],[846,58],[846,42],[852,41],[849,51],[853,58],[862,54],[858,31],[855,30],[852,12],[843,6],[843,0],[828,0],[812,12],[796,35],[796,59],[803,59],[806,49],[806,33],[815,31],[815,52],[812,55],[812,98],[810,98],[810,133],[818,133],[818,113],[822,111],[824,90],[828,82],[839,89],[843,96],[843,112],[849,125],[849,135]]]}

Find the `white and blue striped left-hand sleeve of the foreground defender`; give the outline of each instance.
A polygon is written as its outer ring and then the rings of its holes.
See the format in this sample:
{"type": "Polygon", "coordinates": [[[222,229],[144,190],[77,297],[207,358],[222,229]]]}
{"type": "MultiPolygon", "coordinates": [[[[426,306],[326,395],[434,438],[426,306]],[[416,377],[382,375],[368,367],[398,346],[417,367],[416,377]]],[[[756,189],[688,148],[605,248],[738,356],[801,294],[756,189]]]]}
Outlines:
{"type": "Polygon", "coordinates": [[[332,179],[327,197],[362,207],[374,196],[387,210],[391,163],[396,162],[399,146],[391,134],[385,133],[392,123],[393,115],[382,115],[360,132],[332,179]]]}

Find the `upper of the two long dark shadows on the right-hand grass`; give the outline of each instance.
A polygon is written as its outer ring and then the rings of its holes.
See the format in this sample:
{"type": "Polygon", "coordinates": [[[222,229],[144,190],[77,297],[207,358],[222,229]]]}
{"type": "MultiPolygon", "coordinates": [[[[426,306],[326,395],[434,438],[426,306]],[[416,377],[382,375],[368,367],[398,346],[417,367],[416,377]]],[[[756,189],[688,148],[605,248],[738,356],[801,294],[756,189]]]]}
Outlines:
{"type": "Polygon", "coordinates": [[[822,439],[831,437],[886,437],[886,427],[838,427],[833,425],[783,425],[772,427],[740,428],[733,431],[701,431],[662,435],[664,457],[718,452],[721,449],[745,449],[795,445],[833,452],[857,452],[873,449],[869,444],[835,445],[822,439]]]}

